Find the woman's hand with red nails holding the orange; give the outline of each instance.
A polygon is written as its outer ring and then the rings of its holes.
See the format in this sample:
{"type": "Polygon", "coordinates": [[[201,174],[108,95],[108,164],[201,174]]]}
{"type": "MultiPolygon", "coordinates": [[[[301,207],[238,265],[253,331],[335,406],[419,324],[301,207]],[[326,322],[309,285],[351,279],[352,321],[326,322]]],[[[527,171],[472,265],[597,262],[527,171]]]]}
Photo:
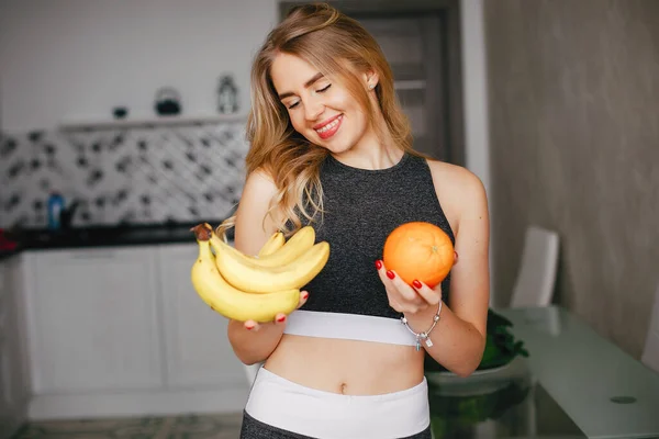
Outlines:
{"type": "MultiPolygon", "coordinates": [[[[458,255],[454,255],[455,264],[458,261],[458,255]]],[[[409,285],[395,271],[388,270],[381,260],[376,261],[376,269],[387,290],[389,306],[399,313],[416,314],[428,306],[436,306],[442,300],[442,282],[435,288],[429,288],[425,283],[414,280],[412,285],[409,285]]]]}

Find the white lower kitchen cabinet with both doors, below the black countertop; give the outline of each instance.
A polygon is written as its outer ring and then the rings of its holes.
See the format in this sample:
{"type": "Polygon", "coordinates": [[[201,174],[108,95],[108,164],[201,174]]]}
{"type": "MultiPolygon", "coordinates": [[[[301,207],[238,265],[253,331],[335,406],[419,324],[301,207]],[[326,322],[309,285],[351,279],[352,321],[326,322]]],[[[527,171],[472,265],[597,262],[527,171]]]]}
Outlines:
{"type": "Polygon", "coordinates": [[[239,413],[227,320],[192,289],[197,246],[24,254],[32,419],[239,413]]]}

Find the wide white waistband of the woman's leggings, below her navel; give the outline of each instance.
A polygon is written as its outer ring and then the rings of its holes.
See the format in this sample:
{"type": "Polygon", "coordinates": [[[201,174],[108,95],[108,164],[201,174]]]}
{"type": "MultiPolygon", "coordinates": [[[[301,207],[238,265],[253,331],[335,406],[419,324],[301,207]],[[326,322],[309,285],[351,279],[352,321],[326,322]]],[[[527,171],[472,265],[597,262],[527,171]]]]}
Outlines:
{"type": "Polygon", "coordinates": [[[431,423],[427,381],[382,395],[310,389],[260,368],[245,410],[255,419],[323,439],[403,438],[431,423]]]}

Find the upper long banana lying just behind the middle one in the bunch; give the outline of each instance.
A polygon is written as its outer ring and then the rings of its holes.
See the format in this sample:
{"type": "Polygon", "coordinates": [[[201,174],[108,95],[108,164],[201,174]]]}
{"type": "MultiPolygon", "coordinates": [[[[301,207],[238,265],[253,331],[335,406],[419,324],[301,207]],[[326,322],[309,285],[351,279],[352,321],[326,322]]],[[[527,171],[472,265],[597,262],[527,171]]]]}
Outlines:
{"type": "MultiPolygon", "coordinates": [[[[204,224],[205,225],[205,224],[204,224]]],[[[205,225],[206,228],[212,229],[210,225],[205,225]]],[[[255,264],[256,267],[281,267],[290,263],[300,256],[302,256],[306,250],[309,250],[313,244],[315,243],[315,232],[312,226],[304,226],[299,229],[293,236],[290,237],[288,241],[277,251],[264,256],[255,258],[248,255],[245,255],[242,251],[234,251],[236,258],[239,258],[243,263],[255,264]]],[[[231,247],[226,243],[224,243],[220,237],[211,232],[211,247],[215,252],[220,251],[221,248],[231,247]]],[[[233,249],[233,247],[231,247],[233,249]]]]}

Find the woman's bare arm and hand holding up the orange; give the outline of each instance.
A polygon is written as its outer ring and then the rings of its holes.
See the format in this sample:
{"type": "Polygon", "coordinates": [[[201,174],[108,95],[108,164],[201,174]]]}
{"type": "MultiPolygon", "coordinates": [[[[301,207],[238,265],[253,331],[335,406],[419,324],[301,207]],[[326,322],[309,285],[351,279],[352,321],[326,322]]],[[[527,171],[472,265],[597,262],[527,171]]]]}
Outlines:
{"type": "MultiPolygon", "coordinates": [[[[451,269],[450,308],[444,303],[440,319],[431,334],[432,347],[425,350],[446,369],[460,376],[471,374],[480,364],[485,347],[490,300],[489,215],[485,191],[471,172],[457,168],[444,178],[450,182],[444,193],[445,206],[457,212],[454,230],[459,261],[451,269]]],[[[415,331],[427,330],[442,300],[440,288],[434,290],[407,285],[400,277],[387,278],[381,266],[380,279],[387,286],[392,307],[404,313],[415,331]]]]}

